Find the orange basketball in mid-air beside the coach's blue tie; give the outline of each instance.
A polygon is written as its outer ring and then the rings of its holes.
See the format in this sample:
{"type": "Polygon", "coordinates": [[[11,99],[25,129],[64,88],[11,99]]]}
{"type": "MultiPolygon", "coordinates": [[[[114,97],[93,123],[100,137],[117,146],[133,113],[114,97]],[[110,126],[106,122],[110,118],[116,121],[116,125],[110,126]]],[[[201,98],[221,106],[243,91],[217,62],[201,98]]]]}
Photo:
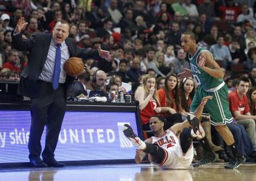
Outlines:
{"type": "Polygon", "coordinates": [[[66,71],[66,73],[72,77],[77,77],[80,74],[82,74],[83,67],[84,65],[83,65],[82,58],[78,58],[78,57],[70,57],[64,63],[64,71],[66,71]]]}

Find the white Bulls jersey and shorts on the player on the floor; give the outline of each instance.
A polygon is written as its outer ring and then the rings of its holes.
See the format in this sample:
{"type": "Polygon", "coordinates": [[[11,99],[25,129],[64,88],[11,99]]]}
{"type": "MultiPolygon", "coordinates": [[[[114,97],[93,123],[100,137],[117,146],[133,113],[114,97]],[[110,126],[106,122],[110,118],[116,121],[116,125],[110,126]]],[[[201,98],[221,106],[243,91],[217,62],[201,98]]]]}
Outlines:
{"type": "MultiPolygon", "coordinates": [[[[182,152],[181,143],[176,134],[168,129],[163,137],[151,137],[151,143],[158,145],[164,150],[164,159],[162,163],[157,164],[169,169],[187,169],[192,163],[194,157],[194,147],[191,143],[186,153],[182,152]]],[[[156,164],[156,163],[153,163],[156,164]]]]}

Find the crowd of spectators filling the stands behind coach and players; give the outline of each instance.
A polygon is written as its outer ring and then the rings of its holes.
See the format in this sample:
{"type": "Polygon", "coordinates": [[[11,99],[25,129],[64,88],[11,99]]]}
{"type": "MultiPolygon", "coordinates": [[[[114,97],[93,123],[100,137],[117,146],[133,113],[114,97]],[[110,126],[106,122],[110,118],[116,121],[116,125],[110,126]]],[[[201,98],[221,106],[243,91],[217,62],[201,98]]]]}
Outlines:
{"type": "MultiPolygon", "coordinates": [[[[22,35],[24,39],[36,32],[51,33],[56,22],[66,20],[70,23],[69,36],[75,39],[77,46],[88,49],[101,47],[111,52],[110,62],[83,60],[88,68],[87,74],[81,75],[77,81],[83,83],[82,87],[90,87],[84,94],[94,89],[135,94],[141,84],[144,87],[139,89],[140,92],[147,93],[147,96],[158,95],[155,101],[162,107],[158,111],[163,111],[166,118],[176,113],[186,116],[189,112],[186,99],[191,102],[192,97],[183,92],[179,98],[176,74],[182,68],[190,67],[186,52],[181,49],[180,38],[182,32],[192,31],[198,46],[210,50],[225,71],[224,81],[229,91],[236,91],[236,78],[242,75],[249,78],[250,111],[256,115],[256,91],[253,87],[256,86],[254,0],[0,1],[2,80],[19,81],[19,74],[27,65],[29,55],[12,49],[12,32],[22,16],[28,22],[22,35]],[[101,74],[102,81],[97,82],[101,74]],[[147,79],[142,84],[145,74],[150,74],[146,78],[153,80],[156,90],[160,91],[150,93],[150,87],[147,90],[147,79]],[[98,88],[94,87],[95,84],[98,88]],[[109,86],[106,87],[106,84],[109,86]],[[172,93],[168,95],[168,92],[172,93]]],[[[182,86],[186,82],[184,80],[182,86]]],[[[190,84],[193,89],[194,82],[190,81],[190,84]]],[[[140,106],[144,108],[147,105],[140,106]]],[[[182,116],[180,119],[183,119],[182,116]]],[[[148,128],[147,124],[145,121],[145,128],[148,128]]],[[[255,136],[255,132],[253,134],[255,136]]],[[[249,136],[252,139],[253,136],[249,136]]],[[[252,143],[255,151],[255,140],[252,143]]]]}

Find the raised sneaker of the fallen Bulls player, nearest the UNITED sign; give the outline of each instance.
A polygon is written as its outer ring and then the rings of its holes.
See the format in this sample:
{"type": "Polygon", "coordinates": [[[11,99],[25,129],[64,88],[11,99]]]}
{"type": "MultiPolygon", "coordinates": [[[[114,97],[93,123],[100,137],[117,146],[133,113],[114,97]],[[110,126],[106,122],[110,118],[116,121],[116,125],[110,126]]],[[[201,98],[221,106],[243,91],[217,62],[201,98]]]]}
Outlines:
{"type": "Polygon", "coordinates": [[[142,147],[143,145],[145,145],[145,143],[134,133],[132,127],[130,127],[129,124],[124,124],[123,128],[123,132],[124,135],[126,135],[126,137],[132,142],[134,143],[134,145],[136,145],[137,147],[142,147]]]}

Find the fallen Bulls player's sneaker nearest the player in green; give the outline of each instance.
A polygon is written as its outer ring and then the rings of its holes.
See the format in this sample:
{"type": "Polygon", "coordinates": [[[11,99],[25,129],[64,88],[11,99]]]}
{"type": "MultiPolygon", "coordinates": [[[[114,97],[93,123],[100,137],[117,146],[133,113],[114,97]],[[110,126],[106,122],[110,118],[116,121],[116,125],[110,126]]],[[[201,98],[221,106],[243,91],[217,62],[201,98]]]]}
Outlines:
{"type": "Polygon", "coordinates": [[[202,139],[205,137],[205,131],[203,131],[203,127],[199,124],[199,120],[192,114],[187,115],[187,121],[192,128],[191,135],[192,137],[197,137],[198,139],[202,139]]]}

